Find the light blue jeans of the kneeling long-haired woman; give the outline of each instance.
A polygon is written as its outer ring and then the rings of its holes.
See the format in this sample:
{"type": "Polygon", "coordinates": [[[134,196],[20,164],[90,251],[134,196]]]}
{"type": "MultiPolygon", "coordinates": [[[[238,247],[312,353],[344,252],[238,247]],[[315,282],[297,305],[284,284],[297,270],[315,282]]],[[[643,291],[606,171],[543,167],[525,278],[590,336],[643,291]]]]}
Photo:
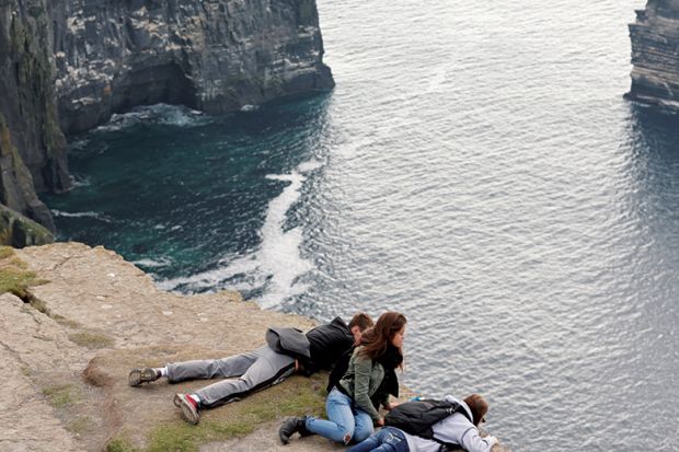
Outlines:
{"type": "Polygon", "coordinates": [[[308,417],[307,430],[336,442],[348,444],[352,440],[360,442],[375,430],[370,415],[354,408],[354,401],[333,389],[325,399],[327,420],[308,417]]]}

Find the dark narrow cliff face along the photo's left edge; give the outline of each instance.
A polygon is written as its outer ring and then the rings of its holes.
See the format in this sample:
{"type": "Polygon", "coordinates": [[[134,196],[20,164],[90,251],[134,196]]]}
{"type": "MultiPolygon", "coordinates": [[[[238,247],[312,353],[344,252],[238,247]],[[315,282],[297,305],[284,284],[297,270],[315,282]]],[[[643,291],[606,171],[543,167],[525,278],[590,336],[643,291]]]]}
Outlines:
{"type": "Polygon", "coordinates": [[[35,193],[70,187],[54,102],[49,5],[0,1],[0,202],[54,230],[35,193]]]}

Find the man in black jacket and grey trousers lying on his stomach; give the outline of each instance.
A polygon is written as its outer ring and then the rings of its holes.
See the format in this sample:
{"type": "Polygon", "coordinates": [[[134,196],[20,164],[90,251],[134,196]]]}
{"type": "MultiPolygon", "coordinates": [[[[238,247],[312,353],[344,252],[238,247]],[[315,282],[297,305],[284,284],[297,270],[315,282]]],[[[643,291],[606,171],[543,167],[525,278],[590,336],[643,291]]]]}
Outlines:
{"type": "Polygon", "coordinates": [[[166,378],[170,383],[225,379],[193,394],[175,394],[174,405],[181,409],[182,418],[196,425],[200,420],[200,409],[239,401],[283,382],[296,371],[310,375],[319,370],[330,370],[347,350],[360,344],[362,332],[370,326],[370,316],[358,313],[348,325],[336,317],[309,331],[306,337],[309,339],[310,359],[303,361],[265,345],[256,350],[222,359],[173,362],[164,368],[133,369],[128,383],[130,386],[139,386],[160,378],[166,378]]]}

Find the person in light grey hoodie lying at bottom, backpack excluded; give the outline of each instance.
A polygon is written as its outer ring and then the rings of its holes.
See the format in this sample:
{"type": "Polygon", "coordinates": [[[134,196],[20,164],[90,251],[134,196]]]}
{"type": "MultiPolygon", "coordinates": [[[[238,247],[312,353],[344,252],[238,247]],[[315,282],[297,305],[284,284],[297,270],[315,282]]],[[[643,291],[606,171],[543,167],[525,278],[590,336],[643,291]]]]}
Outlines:
{"type": "MultiPolygon", "coordinates": [[[[467,412],[454,413],[431,427],[434,438],[441,442],[458,444],[468,452],[490,452],[498,441],[495,437],[481,438],[479,425],[485,421],[487,402],[479,394],[471,394],[463,401],[447,395],[445,401],[459,403],[467,412]],[[472,420],[470,420],[470,418],[472,420]]],[[[439,452],[441,443],[408,434],[395,427],[384,427],[347,452],[439,452]]]]}

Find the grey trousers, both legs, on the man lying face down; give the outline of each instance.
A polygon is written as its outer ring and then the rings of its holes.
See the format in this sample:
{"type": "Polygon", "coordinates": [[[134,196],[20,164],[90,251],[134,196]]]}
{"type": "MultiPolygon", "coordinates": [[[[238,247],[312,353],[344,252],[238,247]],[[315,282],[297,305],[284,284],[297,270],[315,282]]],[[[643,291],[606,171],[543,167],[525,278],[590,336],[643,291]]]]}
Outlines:
{"type": "Polygon", "coordinates": [[[278,384],[295,372],[295,358],[265,345],[254,351],[222,359],[205,359],[168,364],[171,383],[195,379],[227,380],[196,391],[200,406],[212,408],[278,384]]]}

